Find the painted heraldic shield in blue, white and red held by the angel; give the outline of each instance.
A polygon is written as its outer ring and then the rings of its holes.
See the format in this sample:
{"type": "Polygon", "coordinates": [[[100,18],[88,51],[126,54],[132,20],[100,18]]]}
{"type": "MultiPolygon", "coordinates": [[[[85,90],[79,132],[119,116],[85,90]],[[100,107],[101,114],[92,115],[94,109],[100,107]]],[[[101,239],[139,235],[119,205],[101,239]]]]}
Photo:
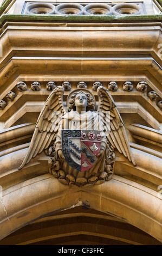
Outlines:
{"type": "Polygon", "coordinates": [[[80,172],[90,169],[98,161],[101,131],[62,130],[61,143],[65,161],[80,172]]]}

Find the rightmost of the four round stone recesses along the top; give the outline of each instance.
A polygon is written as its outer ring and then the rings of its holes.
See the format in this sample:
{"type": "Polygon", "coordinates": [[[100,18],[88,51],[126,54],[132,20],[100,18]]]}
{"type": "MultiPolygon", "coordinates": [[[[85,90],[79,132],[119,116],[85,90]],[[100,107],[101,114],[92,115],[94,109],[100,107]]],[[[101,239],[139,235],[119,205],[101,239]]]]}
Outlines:
{"type": "Polygon", "coordinates": [[[113,14],[132,15],[140,14],[141,8],[137,4],[116,4],[113,7],[113,14]]]}

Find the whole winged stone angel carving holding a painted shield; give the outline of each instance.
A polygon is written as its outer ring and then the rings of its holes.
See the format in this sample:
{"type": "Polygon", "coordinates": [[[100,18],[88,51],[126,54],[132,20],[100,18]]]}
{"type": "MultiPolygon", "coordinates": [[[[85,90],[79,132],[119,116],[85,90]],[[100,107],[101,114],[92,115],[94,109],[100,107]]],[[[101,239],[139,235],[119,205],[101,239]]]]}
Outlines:
{"type": "Polygon", "coordinates": [[[72,90],[63,104],[64,89],[56,87],[44,103],[30,147],[19,169],[43,150],[49,172],[67,185],[99,185],[111,180],[116,148],[135,165],[124,123],[109,91],[95,96],[87,88],[72,90]]]}

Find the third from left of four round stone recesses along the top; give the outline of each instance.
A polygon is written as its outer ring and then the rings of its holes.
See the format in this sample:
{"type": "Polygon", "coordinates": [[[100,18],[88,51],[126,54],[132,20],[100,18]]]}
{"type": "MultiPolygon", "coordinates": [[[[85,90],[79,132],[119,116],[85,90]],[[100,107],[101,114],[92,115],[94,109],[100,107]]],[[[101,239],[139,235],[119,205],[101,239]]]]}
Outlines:
{"type": "Polygon", "coordinates": [[[86,15],[108,15],[112,14],[112,7],[108,4],[88,4],[85,7],[86,15]]]}

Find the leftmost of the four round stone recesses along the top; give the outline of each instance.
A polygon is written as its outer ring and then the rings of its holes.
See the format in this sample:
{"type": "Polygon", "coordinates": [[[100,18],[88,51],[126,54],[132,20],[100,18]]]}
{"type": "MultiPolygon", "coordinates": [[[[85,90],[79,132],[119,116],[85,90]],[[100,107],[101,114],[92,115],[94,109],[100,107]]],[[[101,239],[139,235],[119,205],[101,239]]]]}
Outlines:
{"type": "Polygon", "coordinates": [[[54,14],[55,6],[53,4],[35,3],[30,4],[27,8],[29,14],[54,14]]]}

